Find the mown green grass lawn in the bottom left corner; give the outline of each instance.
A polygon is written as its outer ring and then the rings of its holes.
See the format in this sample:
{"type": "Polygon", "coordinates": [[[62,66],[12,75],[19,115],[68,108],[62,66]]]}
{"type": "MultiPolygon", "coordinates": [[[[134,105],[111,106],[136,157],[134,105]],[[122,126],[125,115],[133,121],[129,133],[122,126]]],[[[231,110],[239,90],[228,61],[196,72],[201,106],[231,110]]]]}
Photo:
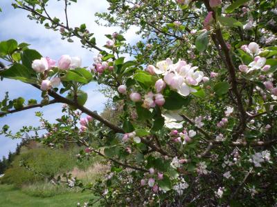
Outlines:
{"type": "MultiPolygon", "coordinates": [[[[0,185],[0,206],[1,207],[70,207],[77,206],[93,197],[92,193],[64,193],[53,197],[33,197],[26,195],[10,185],[0,185]]],[[[98,206],[95,204],[94,206],[98,206]]]]}

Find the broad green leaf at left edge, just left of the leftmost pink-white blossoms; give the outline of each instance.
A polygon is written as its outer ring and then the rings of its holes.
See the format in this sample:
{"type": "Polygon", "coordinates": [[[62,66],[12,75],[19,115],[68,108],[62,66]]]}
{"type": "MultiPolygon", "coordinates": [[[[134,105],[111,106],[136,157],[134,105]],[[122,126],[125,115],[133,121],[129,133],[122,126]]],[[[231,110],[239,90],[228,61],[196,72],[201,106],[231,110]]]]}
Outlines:
{"type": "Polygon", "coordinates": [[[12,67],[10,67],[8,70],[4,70],[3,72],[0,72],[0,77],[5,77],[8,79],[16,79],[24,82],[30,82],[32,81],[31,78],[33,76],[32,74],[30,74],[30,70],[28,68],[26,68],[25,66],[19,63],[14,63],[12,67]]]}

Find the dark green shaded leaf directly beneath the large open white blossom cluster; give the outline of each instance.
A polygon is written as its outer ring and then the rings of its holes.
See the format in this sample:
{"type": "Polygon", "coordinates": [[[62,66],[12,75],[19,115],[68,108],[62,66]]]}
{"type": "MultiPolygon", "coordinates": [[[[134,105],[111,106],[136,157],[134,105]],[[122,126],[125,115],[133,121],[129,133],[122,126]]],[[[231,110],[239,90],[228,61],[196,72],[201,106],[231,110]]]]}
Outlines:
{"type": "Polygon", "coordinates": [[[169,92],[166,92],[166,95],[164,95],[164,98],[166,102],[165,104],[163,104],[163,108],[167,110],[178,110],[183,106],[188,106],[191,100],[190,97],[183,97],[179,95],[178,92],[175,92],[172,90],[169,90],[169,92]]]}

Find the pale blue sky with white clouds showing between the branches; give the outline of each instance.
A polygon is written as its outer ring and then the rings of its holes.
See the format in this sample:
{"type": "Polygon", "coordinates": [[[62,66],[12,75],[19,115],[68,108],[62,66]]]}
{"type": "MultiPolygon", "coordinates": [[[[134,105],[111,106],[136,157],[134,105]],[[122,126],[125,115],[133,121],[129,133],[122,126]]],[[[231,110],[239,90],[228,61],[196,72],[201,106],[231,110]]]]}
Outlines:
{"type": "MultiPolygon", "coordinates": [[[[93,57],[98,54],[96,50],[90,52],[82,48],[78,40],[74,41],[74,43],[63,41],[60,38],[59,32],[46,30],[42,25],[35,23],[35,21],[30,21],[27,18],[28,12],[15,10],[12,8],[11,3],[12,0],[0,1],[0,8],[3,11],[0,12],[0,41],[15,39],[19,43],[29,43],[31,45],[29,48],[38,50],[43,56],[49,56],[55,60],[65,54],[79,56],[82,57],[82,66],[91,66],[93,57]]],[[[73,3],[69,7],[69,26],[74,28],[75,26],[80,26],[81,23],[86,23],[89,31],[95,34],[98,46],[103,46],[107,41],[104,34],[111,34],[119,30],[116,27],[105,28],[98,26],[94,22],[96,20],[94,13],[106,11],[108,7],[109,4],[104,0],[79,0],[78,3],[73,3]]],[[[63,20],[63,9],[63,1],[51,0],[48,6],[48,13],[63,20]]],[[[135,30],[136,28],[132,28],[132,30],[129,30],[125,34],[127,42],[132,43],[139,39],[135,34],[135,30]]],[[[100,112],[104,108],[106,98],[98,92],[96,83],[89,83],[83,90],[89,95],[86,103],[87,108],[100,112]]],[[[25,99],[40,100],[39,90],[20,81],[8,79],[0,81],[0,100],[3,99],[6,91],[9,92],[10,99],[24,97],[25,99]]],[[[61,104],[55,103],[52,106],[8,115],[0,118],[0,128],[8,124],[10,129],[16,132],[22,126],[39,126],[38,119],[35,117],[35,111],[42,111],[46,119],[55,121],[62,114],[60,108],[61,104]]],[[[14,151],[19,141],[0,136],[0,159],[3,155],[8,155],[10,150],[14,151]]]]}

